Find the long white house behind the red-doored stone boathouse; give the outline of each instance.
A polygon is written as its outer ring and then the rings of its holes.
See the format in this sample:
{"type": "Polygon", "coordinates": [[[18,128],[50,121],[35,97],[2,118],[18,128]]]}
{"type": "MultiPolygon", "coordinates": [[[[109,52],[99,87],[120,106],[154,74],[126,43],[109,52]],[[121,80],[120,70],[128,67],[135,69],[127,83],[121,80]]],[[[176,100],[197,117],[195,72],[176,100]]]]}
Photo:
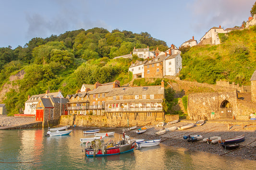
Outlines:
{"type": "Polygon", "coordinates": [[[55,93],[49,93],[49,90],[47,90],[45,94],[28,96],[27,101],[25,102],[24,114],[36,115],[36,106],[40,98],[49,98],[50,96],[64,98],[61,94],[61,90],[55,93]]]}

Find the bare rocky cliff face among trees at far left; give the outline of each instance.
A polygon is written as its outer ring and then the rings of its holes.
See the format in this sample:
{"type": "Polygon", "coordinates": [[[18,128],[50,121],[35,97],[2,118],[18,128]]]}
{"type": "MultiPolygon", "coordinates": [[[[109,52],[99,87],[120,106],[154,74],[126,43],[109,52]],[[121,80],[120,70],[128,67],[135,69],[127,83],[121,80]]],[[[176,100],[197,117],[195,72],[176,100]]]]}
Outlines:
{"type": "Polygon", "coordinates": [[[15,75],[11,75],[9,77],[9,82],[5,83],[0,89],[0,103],[6,98],[5,94],[10,92],[11,89],[18,91],[19,85],[17,85],[17,80],[21,80],[24,78],[24,70],[19,71],[15,75]]]}

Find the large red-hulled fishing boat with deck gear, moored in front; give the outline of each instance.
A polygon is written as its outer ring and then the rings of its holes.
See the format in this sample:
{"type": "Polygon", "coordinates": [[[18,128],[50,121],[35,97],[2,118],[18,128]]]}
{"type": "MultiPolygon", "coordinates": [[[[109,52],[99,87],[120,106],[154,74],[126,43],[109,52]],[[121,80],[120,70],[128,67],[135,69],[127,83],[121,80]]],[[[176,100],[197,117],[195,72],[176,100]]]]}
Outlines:
{"type": "Polygon", "coordinates": [[[134,147],[135,147],[135,141],[133,141],[132,143],[127,143],[125,140],[122,140],[117,144],[108,143],[105,145],[93,144],[92,142],[92,147],[85,149],[85,155],[87,157],[116,155],[116,154],[133,151],[134,147]]]}

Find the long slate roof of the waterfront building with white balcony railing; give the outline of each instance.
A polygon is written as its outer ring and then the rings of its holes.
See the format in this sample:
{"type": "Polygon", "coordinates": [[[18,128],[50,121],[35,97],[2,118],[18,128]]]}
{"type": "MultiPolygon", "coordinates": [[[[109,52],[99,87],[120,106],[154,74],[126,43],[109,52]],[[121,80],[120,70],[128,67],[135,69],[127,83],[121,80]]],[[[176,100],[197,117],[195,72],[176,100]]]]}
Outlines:
{"type": "Polygon", "coordinates": [[[107,96],[131,96],[131,95],[163,95],[164,88],[161,85],[117,87],[113,88],[107,96]]]}

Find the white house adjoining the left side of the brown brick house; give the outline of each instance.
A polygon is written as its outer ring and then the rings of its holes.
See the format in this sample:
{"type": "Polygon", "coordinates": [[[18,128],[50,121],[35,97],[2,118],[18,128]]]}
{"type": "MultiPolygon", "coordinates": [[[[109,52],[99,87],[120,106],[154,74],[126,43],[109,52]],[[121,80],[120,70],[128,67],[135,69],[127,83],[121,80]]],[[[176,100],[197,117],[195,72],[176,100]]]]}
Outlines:
{"type": "Polygon", "coordinates": [[[129,71],[133,73],[134,78],[144,78],[144,64],[147,62],[145,61],[136,61],[129,67],[129,71]]]}

